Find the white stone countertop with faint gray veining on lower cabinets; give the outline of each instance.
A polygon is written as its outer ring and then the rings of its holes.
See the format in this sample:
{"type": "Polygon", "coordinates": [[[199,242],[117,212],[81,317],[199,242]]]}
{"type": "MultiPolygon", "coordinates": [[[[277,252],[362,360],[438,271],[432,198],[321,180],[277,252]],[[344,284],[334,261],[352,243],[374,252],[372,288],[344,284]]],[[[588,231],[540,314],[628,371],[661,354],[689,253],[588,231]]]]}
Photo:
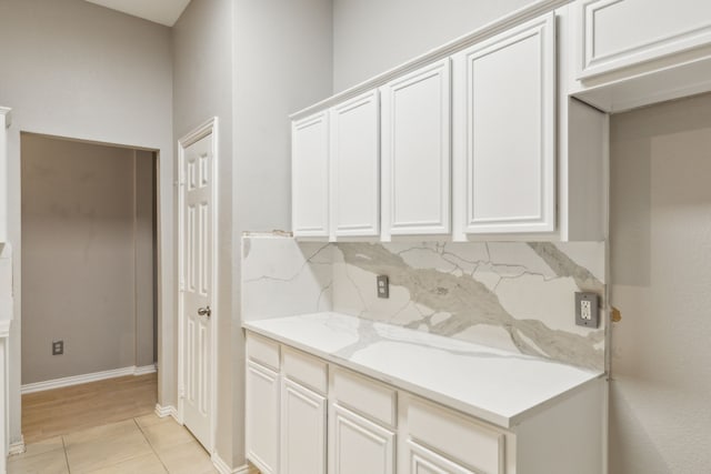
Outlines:
{"type": "Polygon", "coordinates": [[[603,376],[339,313],[251,321],[243,327],[503,428],[603,376]]]}

